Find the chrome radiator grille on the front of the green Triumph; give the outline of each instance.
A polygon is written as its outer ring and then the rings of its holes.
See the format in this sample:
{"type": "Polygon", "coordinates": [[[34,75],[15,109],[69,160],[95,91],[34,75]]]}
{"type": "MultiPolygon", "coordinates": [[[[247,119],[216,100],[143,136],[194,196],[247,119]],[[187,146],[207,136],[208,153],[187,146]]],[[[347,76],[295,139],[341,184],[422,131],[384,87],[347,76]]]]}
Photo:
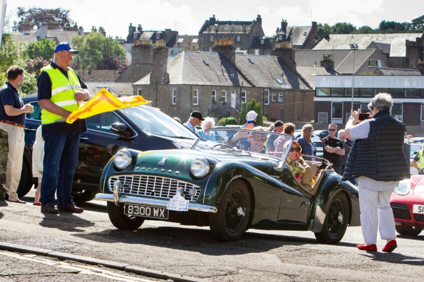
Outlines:
{"type": "Polygon", "coordinates": [[[111,190],[116,180],[121,181],[118,193],[170,199],[175,195],[176,189],[181,187],[182,195],[186,200],[194,201],[200,195],[199,186],[169,177],[145,174],[114,175],[109,177],[109,188],[111,190]],[[188,194],[188,190],[191,188],[196,190],[193,196],[188,194]]]}

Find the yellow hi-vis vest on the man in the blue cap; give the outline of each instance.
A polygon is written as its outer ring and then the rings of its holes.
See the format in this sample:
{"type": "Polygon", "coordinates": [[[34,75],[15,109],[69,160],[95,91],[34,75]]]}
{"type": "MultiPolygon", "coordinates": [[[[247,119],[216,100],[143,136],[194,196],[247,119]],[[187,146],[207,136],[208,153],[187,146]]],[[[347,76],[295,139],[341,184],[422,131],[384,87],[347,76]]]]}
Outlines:
{"type": "MultiPolygon", "coordinates": [[[[66,78],[59,68],[54,68],[51,64],[43,67],[41,71],[46,71],[52,80],[52,97],[50,100],[66,110],[76,110],[78,103],[75,100],[75,92],[81,88],[81,84],[75,71],[68,67],[68,78],[66,78]]],[[[64,117],[46,109],[41,110],[42,124],[54,123],[61,118],[64,117]]]]}

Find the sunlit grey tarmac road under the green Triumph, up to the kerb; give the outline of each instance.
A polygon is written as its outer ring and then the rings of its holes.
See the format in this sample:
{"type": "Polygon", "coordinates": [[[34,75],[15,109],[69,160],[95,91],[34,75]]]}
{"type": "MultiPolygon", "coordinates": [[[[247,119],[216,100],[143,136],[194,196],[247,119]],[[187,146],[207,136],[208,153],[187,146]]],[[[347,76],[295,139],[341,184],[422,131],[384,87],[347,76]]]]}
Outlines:
{"type": "Polygon", "coordinates": [[[378,252],[356,249],[360,227],[348,227],[337,245],[319,244],[308,231],[252,229],[238,241],[220,242],[207,227],[162,221],[118,230],[99,201],[82,204],[82,214],[44,215],[31,194],[26,205],[0,202],[0,241],[214,281],[424,281],[424,232],[399,235],[393,253],[381,252],[380,239],[378,252]]]}

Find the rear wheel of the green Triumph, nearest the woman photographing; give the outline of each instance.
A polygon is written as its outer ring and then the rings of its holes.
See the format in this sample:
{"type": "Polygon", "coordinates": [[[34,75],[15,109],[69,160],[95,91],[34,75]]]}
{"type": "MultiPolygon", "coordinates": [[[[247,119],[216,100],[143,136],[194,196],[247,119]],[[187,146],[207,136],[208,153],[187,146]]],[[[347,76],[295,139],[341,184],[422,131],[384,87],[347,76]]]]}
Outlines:
{"type": "Polygon", "coordinates": [[[349,221],[349,202],[346,194],[335,195],[326,214],[322,230],[315,232],[315,237],[321,243],[336,244],[343,238],[349,221]]]}

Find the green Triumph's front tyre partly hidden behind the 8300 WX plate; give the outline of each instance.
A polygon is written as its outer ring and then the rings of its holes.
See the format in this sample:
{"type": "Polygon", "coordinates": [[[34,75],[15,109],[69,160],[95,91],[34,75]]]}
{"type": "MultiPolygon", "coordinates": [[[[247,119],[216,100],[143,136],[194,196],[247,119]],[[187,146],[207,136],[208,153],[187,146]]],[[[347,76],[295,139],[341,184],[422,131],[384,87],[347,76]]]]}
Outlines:
{"type": "Polygon", "coordinates": [[[124,214],[124,206],[117,206],[114,202],[107,202],[107,213],[113,226],[122,230],[137,230],[144,222],[140,216],[128,216],[124,214]]]}

